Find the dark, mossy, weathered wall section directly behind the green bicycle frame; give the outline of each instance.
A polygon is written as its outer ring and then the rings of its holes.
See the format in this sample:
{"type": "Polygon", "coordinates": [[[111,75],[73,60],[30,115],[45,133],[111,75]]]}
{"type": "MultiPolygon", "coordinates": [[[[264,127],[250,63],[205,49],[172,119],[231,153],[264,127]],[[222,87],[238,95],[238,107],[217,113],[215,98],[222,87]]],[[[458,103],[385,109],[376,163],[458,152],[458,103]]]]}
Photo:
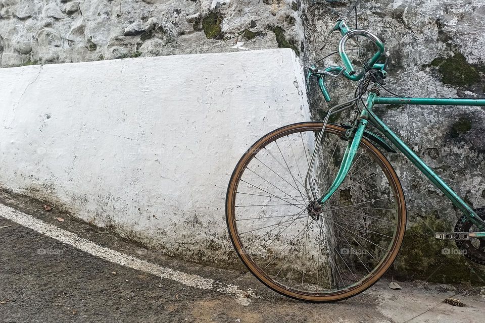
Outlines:
{"type": "MultiPolygon", "coordinates": [[[[348,11],[349,3],[308,1],[303,14],[307,62],[336,50],[338,35],[324,51],[319,48],[338,14],[348,11]]],[[[485,1],[374,0],[358,7],[359,28],[378,35],[390,53],[387,88],[405,96],[485,96],[485,1]]],[[[354,24],[353,18],[349,25],[354,24]]],[[[331,65],[342,65],[338,56],[319,66],[331,65]]],[[[333,96],[330,105],[353,97],[352,82],[326,83],[333,96]]],[[[318,92],[313,84],[309,98],[315,119],[328,110],[318,92]]],[[[375,110],[465,201],[473,207],[485,205],[484,107],[391,105],[375,110]]],[[[333,121],[338,123],[346,116],[333,121]]],[[[456,246],[433,238],[434,232],[453,231],[461,212],[401,154],[387,157],[403,184],[408,210],[405,242],[395,263],[397,273],[430,281],[483,284],[483,268],[462,256],[443,254],[443,250],[456,252],[456,246]]]]}

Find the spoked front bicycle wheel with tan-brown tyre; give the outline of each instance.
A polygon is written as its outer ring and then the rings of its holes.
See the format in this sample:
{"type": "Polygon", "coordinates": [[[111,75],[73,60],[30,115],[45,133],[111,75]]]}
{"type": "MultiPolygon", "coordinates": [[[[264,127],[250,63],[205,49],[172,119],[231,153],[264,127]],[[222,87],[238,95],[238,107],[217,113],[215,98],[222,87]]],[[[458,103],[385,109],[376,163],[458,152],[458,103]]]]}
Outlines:
{"type": "MultiPolygon", "coordinates": [[[[315,207],[304,180],[322,128],[304,122],[263,136],[237,163],[226,196],[229,235],[250,272],[282,295],[312,302],[371,287],[396,258],[406,228],[396,172],[365,138],[340,188],[315,207]]],[[[327,125],[317,147],[309,180],[318,196],[340,168],[343,132],[327,125]]]]}

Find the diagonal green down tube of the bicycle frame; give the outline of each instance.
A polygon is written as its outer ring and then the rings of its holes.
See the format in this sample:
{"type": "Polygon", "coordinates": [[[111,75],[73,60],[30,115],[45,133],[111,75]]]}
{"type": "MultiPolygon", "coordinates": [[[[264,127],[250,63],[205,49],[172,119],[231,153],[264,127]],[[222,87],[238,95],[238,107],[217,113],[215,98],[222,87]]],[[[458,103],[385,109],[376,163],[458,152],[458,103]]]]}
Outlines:
{"type": "Polygon", "coordinates": [[[425,163],[422,161],[414,151],[411,150],[394,132],[391,131],[383,122],[380,120],[373,111],[369,111],[370,121],[374,126],[379,129],[387,139],[391,140],[392,143],[402,151],[402,153],[412,161],[414,165],[436,186],[438,187],[464,214],[472,216],[478,220],[475,212],[455,193],[445,182],[435,174],[425,163]]]}

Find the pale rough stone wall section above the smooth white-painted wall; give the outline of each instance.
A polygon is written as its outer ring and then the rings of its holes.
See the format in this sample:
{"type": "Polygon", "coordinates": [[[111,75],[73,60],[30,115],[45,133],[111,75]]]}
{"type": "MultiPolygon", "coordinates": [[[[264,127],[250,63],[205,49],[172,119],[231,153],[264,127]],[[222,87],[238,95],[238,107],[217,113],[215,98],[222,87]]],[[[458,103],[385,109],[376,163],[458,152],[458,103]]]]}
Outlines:
{"type": "Polygon", "coordinates": [[[300,0],[1,0],[0,66],[293,47],[300,0]]]}

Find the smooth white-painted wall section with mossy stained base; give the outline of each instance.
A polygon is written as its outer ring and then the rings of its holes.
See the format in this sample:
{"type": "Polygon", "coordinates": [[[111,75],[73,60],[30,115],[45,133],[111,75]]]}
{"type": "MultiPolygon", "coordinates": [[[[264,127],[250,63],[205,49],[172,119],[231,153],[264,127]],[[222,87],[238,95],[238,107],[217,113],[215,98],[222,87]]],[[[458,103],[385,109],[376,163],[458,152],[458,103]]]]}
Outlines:
{"type": "Polygon", "coordinates": [[[232,170],[309,119],[291,49],[0,69],[0,186],[182,257],[223,260],[232,170]]]}

